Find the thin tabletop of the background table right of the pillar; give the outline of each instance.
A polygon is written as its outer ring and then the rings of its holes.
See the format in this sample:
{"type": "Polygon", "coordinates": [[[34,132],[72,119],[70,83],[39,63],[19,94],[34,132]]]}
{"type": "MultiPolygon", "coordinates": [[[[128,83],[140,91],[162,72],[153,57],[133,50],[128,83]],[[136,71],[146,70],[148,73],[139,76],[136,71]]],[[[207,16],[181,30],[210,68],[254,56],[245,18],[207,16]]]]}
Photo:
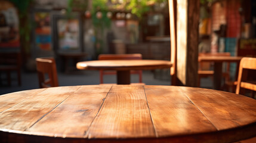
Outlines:
{"type": "Polygon", "coordinates": [[[243,57],[233,57],[233,56],[199,56],[198,61],[212,61],[212,62],[238,62],[242,60],[243,57]]]}

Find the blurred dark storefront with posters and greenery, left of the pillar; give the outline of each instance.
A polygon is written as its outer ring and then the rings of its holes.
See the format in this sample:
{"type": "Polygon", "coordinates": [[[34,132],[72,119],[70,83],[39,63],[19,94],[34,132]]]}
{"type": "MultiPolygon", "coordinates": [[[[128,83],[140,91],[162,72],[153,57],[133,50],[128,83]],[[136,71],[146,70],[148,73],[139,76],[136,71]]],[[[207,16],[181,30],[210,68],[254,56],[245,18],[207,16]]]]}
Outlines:
{"type": "Polygon", "coordinates": [[[0,7],[0,48],[10,50],[15,46],[20,50],[26,69],[35,70],[36,57],[59,58],[63,53],[86,53],[84,60],[95,60],[103,53],[140,53],[144,59],[169,60],[167,0],[158,4],[146,2],[143,7],[147,12],[141,12],[140,17],[127,10],[127,1],[106,1],[102,5],[100,1],[91,0],[26,0],[24,14],[13,13],[16,16],[6,12],[5,3],[17,11],[24,9],[17,7],[17,2],[0,1],[3,5],[0,7]],[[19,31],[18,20],[22,16],[29,24],[22,21],[26,27],[19,31]],[[14,19],[10,21],[8,17],[14,19]],[[12,32],[13,37],[7,38],[6,32],[12,32]],[[26,33],[26,38],[21,36],[20,40],[19,33],[26,33]],[[28,45],[20,44],[24,38],[28,45]]]}

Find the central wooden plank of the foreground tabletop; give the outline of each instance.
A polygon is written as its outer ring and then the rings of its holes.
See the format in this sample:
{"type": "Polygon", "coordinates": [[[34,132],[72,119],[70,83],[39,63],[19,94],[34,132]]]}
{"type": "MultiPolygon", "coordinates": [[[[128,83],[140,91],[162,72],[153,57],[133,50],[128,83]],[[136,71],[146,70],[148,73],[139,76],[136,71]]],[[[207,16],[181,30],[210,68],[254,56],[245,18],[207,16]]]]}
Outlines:
{"type": "Polygon", "coordinates": [[[87,137],[155,137],[143,86],[113,85],[87,137]]]}

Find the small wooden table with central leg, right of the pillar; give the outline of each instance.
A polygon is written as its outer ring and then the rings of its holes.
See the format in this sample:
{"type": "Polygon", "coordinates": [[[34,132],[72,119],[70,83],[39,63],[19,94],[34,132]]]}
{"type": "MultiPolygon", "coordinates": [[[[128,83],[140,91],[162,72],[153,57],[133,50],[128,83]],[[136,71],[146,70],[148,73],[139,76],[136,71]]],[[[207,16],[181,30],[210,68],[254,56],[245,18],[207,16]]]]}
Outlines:
{"type": "Polygon", "coordinates": [[[214,62],[214,89],[221,89],[223,63],[235,62],[239,67],[239,63],[242,58],[243,57],[208,56],[208,57],[198,57],[198,62],[214,62]]]}

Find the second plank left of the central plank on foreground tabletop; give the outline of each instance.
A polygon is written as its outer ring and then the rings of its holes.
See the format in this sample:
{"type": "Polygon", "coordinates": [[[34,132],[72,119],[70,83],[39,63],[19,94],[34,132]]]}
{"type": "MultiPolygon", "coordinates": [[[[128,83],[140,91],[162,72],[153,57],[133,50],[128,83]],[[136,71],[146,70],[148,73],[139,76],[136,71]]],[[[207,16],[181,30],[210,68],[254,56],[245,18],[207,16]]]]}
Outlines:
{"type": "MultiPolygon", "coordinates": [[[[79,86],[47,88],[30,96],[0,114],[0,128],[21,131],[28,129],[78,88],[79,86]]],[[[31,92],[35,93],[33,90],[31,92]]]]}

